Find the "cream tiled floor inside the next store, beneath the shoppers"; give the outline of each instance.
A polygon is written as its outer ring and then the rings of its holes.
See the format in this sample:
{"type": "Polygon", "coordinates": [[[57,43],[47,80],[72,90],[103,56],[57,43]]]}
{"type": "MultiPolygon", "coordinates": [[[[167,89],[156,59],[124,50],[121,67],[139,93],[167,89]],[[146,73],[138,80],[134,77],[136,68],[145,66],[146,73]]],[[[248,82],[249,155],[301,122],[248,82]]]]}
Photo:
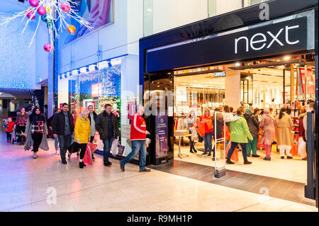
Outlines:
{"type": "MultiPolygon", "coordinates": [[[[198,149],[203,149],[203,142],[198,142],[195,145],[198,149]]],[[[214,166],[214,162],[211,157],[203,156],[201,151],[197,153],[189,152],[189,146],[181,146],[181,153],[188,154],[189,157],[177,157],[178,145],[174,145],[175,157],[184,162],[192,162],[196,164],[202,164],[206,166],[214,166]]],[[[242,159],[242,153],[238,152],[239,161],[233,165],[226,165],[226,169],[241,171],[249,174],[257,174],[260,176],[269,176],[276,179],[284,179],[288,181],[296,181],[300,183],[306,183],[307,181],[307,161],[301,160],[298,157],[293,159],[281,159],[278,153],[272,153],[272,160],[264,161],[266,156],[264,151],[257,152],[261,157],[248,157],[248,160],[252,162],[251,165],[244,165],[242,159]]],[[[220,157],[220,152],[217,152],[216,156],[220,157]]]]}

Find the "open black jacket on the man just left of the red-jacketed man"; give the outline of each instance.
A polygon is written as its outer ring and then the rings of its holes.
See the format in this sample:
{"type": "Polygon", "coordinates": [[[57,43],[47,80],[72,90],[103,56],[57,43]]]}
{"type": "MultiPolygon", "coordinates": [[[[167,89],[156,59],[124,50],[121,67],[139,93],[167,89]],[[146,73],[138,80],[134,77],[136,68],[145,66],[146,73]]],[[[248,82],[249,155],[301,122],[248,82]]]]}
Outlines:
{"type": "MultiPolygon", "coordinates": [[[[112,123],[113,123],[113,137],[116,138],[120,136],[120,129],[118,126],[118,119],[116,118],[116,115],[111,113],[112,117],[112,123]]],[[[103,113],[98,115],[98,118],[96,119],[95,123],[96,131],[99,132],[100,139],[101,140],[108,140],[108,116],[106,111],[103,111],[103,113]]]]}

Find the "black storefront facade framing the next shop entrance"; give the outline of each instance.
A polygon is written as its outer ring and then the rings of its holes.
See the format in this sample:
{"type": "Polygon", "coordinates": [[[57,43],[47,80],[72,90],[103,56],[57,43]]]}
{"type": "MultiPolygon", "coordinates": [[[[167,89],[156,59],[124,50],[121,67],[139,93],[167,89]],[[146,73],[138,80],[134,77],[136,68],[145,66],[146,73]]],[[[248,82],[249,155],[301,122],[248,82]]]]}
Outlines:
{"type": "MultiPolygon", "coordinates": [[[[161,81],[165,91],[174,92],[174,69],[314,52],[315,120],[318,121],[318,1],[277,0],[267,4],[269,20],[261,20],[259,16],[264,8],[255,5],[140,39],[140,85],[144,94],[158,89],[152,81],[161,81]]],[[[151,103],[149,100],[150,96],[144,96],[145,108],[152,108],[154,112],[154,104],[147,105],[151,103]]],[[[172,111],[169,108],[173,107],[170,105],[172,103],[164,106],[167,155],[158,157],[158,137],[152,135],[147,161],[150,164],[162,164],[174,158],[174,117],[169,113],[172,111]]],[[[150,115],[147,128],[157,132],[156,127],[157,117],[150,115]]],[[[318,137],[318,124],[315,137],[318,137]]],[[[318,206],[318,140],[311,148],[315,154],[313,162],[308,162],[308,174],[313,174],[314,179],[309,181],[308,177],[305,191],[306,197],[315,198],[318,206]],[[313,188],[315,194],[311,191],[313,188]]]]}

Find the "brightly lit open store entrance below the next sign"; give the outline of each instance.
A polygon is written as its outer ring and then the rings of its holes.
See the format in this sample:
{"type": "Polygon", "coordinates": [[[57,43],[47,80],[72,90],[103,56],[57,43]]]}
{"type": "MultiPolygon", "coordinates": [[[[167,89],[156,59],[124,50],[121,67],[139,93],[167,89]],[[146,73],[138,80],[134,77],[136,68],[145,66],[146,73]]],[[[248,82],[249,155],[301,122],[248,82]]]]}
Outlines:
{"type": "MultiPolygon", "coordinates": [[[[286,108],[286,114],[292,122],[292,132],[289,135],[293,136],[291,144],[293,158],[287,159],[290,157],[290,152],[284,154],[284,159],[281,158],[275,135],[271,161],[264,160],[265,149],[258,143],[256,155],[259,157],[252,157],[252,152],[248,157],[252,162],[251,165],[244,164],[242,152],[238,149],[238,162],[226,165],[226,169],[306,183],[307,161],[298,154],[298,151],[296,152],[296,149],[299,139],[299,118],[304,115],[307,103],[315,100],[314,72],[312,54],[174,71],[174,131],[184,130],[185,133],[182,137],[174,136],[174,159],[213,166],[213,149],[216,146],[214,137],[211,154],[204,154],[203,137],[197,135],[194,143],[191,137],[194,116],[201,117],[207,108],[212,116],[216,111],[225,112],[225,106],[233,107],[234,115],[240,106],[247,113],[254,113],[258,108],[259,122],[262,118],[260,113],[266,108],[274,109],[272,114],[274,118],[279,115],[281,108],[286,108]],[[307,88],[305,79],[308,79],[307,88]],[[181,154],[179,154],[179,143],[181,154]]],[[[261,137],[259,142],[260,139],[261,137]]],[[[219,151],[218,149],[216,151],[217,158],[220,157],[219,151]]]]}

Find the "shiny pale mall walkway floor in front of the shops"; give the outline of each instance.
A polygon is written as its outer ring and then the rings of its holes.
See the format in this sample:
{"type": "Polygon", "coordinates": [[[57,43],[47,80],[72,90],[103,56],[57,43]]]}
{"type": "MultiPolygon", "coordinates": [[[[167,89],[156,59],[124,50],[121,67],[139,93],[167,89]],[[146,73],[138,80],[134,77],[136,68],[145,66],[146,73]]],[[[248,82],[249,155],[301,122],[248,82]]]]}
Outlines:
{"type": "MultiPolygon", "coordinates": [[[[315,211],[313,205],[274,198],[152,169],[138,172],[101,156],[79,169],[76,156],[60,163],[50,151],[38,159],[0,135],[0,211],[315,211]]],[[[285,188],[279,188],[285,189],[285,188]]]]}

